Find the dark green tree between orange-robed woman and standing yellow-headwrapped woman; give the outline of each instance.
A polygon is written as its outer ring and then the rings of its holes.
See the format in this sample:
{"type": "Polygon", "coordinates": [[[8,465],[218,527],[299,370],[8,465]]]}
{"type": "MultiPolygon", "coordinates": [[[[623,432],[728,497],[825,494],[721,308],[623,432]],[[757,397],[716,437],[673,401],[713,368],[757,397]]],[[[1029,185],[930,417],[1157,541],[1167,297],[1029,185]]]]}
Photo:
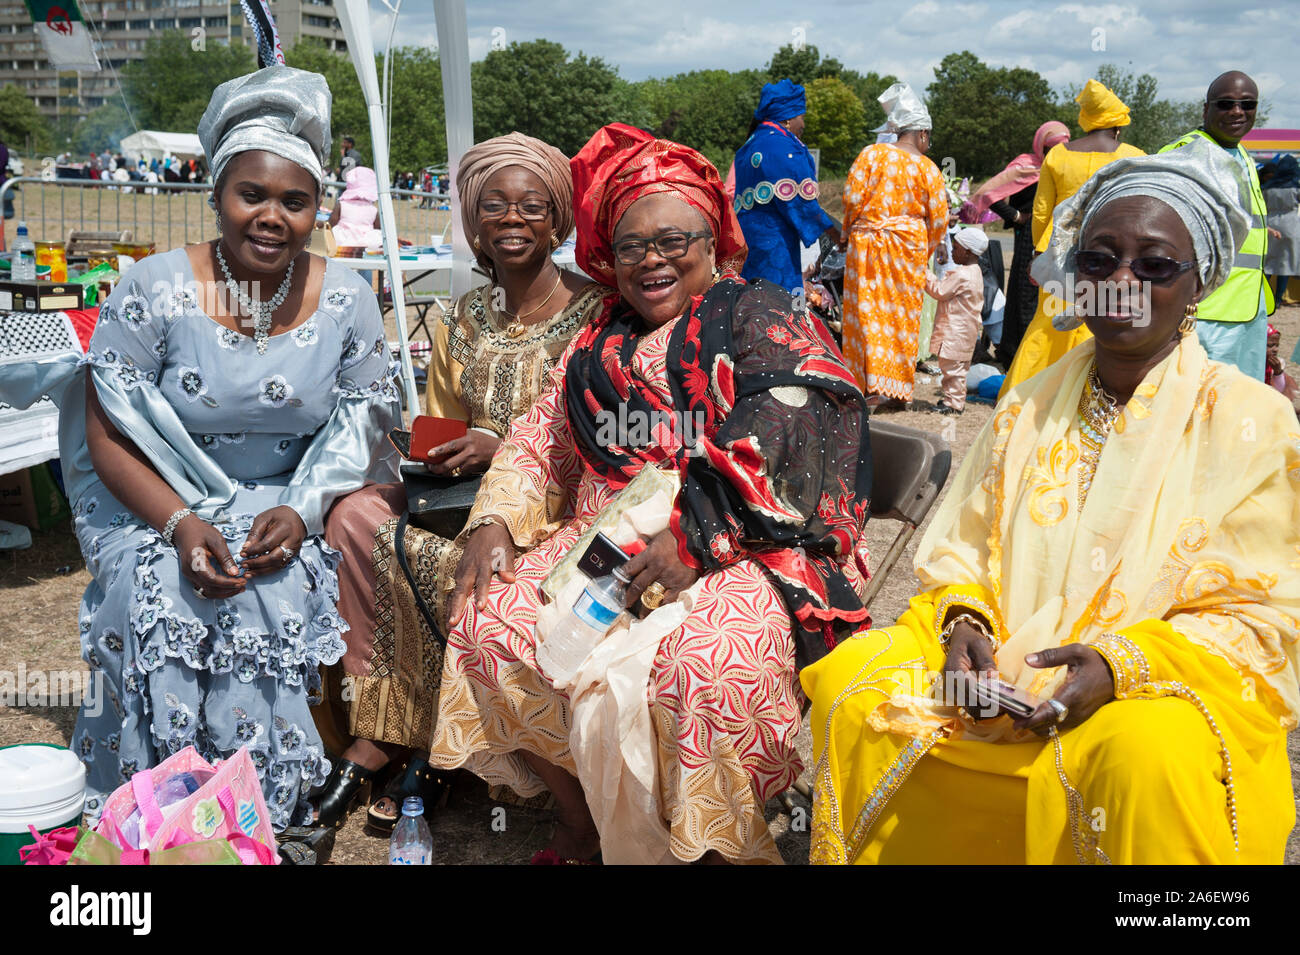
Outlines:
{"type": "Polygon", "coordinates": [[[930,157],[941,166],[950,159],[958,177],[996,173],[1030,148],[1039,126],[1067,117],[1041,75],[991,68],[970,51],[945,56],[926,94],[935,125],[930,157]]]}

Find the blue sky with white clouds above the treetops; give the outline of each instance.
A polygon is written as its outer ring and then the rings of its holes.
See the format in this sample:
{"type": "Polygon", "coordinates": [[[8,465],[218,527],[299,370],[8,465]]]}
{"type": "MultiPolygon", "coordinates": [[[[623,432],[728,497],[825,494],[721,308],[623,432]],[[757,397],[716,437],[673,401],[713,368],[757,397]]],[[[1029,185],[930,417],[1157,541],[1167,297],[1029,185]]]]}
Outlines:
{"type": "MultiPolygon", "coordinates": [[[[395,3],[395,0],[393,0],[395,3]]],[[[627,79],[693,69],[766,65],[780,45],[814,44],[862,73],[893,73],[923,88],[950,52],[1026,66],[1063,87],[1114,62],[1160,81],[1161,96],[1204,97],[1209,81],[1243,69],[1260,84],[1269,126],[1300,127],[1300,56],[1294,4],[942,3],[941,0],[468,0],[469,56],[497,42],[545,38],[603,57],[627,79]],[[1291,6],[1287,12],[1284,8],[1291,6]]],[[[370,0],[376,43],[387,10],[370,0]]],[[[437,45],[433,5],[404,0],[399,43],[437,45]]]]}

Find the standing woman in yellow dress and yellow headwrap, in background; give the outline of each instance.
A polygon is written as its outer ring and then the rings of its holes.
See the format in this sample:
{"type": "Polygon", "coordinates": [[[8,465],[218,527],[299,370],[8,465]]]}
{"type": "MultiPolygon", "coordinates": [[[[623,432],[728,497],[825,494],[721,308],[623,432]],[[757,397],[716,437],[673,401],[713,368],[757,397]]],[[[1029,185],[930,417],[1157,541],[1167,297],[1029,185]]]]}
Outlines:
{"type": "MultiPolygon", "coordinates": [[[[1046,249],[1052,239],[1052,213],[1061,203],[1078,192],[1102,166],[1119,159],[1145,155],[1136,146],[1119,142],[1121,130],[1128,125],[1128,107],[1105,86],[1089,79],[1075,103],[1079,104],[1079,126],[1086,135],[1052,147],[1043,160],[1039,188],[1034,194],[1031,230],[1037,252],[1046,249]]],[[[1057,331],[1052,327],[1052,318],[1061,312],[1062,304],[1057,296],[1039,290],[1034,321],[1020,339],[998,398],[1092,335],[1082,325],[1072,331],[1057,331]]]]}

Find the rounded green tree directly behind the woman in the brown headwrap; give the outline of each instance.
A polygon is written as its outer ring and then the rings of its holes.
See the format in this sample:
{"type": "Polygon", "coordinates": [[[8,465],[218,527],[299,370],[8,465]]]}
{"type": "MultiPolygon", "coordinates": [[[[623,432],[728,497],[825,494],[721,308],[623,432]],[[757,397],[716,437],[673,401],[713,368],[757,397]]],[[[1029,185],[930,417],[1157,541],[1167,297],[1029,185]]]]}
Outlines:
{"type": "Polygon", "coordinates": [[[550,40],[494,49],[471,66],[471,78],[477,140],[517,131],[572,155],[606,123],[645,122],[616,69],[585,53],[569,58],[550,40]]]}

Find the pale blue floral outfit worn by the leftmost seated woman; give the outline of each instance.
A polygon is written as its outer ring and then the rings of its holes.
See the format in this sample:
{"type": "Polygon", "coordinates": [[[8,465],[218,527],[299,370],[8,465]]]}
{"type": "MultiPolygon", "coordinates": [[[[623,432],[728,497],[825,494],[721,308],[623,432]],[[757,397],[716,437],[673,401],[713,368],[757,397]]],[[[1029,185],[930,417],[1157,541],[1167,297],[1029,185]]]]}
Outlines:
{"type": "Polygon", "coordinates": [[[99,481],[84,443],[84,374],[62,401],[74,526],[94,574],[81,605],[92,691],[73,730],[88,768],[86,811],[136,769],[186,746],[247,746],[276,829],[311,817],[329,772],[309,703],[318,667],[343,655],[338,552],[321,538],[334,498],[391,479],[385,434],[399,420],[374,294],[326,265],[316,312],[254,339],[198,307],[185,249],[144,259],[100,309],[86,359],[100,403],[231,554],[254,518],[289,504],[308,537],[244,592],[204,599],[176,548],[99,481]],[[81,435],[78,438],[78,435],[81,435]]]}

